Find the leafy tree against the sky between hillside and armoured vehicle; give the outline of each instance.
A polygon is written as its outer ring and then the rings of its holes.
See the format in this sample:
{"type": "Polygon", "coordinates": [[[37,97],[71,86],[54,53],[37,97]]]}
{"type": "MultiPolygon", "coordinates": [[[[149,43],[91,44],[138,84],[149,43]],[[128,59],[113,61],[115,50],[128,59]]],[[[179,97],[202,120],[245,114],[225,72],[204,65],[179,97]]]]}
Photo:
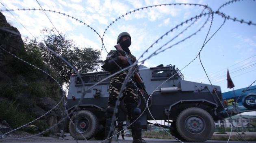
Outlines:
{"type": "Polygon", "coordinates": [[[35,40],[31,40],[30,44],[25,44],[27,51],[31,50],[31,46],[40,49],[43,61],[48,65],[52,71],[56,72],[56,76],[59,79],[61,85],[69,83],[69,78],[73,69],[69,67],[63,59],[68,61],[79,73],[86,73],[89,71],[98,71],[103,61],[100,59],[100,51],[93,48],[80,48],[74,44],[72,40],[69,40],[65,35],[56,35],[52,29],[43,29],[46,35],[43,40],[37,43],[35,40]],[[26,47],[26,46],[30,46],[26,47]],[[54,55],[47,48],[50,48],[54,52],[61,55],[61,58],[54,55]]]}

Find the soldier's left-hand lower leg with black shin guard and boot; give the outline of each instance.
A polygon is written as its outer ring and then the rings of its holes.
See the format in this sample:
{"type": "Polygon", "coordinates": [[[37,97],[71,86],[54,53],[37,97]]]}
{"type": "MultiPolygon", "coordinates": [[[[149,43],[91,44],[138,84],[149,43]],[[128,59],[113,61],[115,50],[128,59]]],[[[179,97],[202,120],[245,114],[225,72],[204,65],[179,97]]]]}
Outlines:
{"type": "MultiPolygon", "coordinates": [[[[111,137],[113,135],[113,131],[110,132],[110,130],[111,130],[111,123],[112,123],[112,116],[114,114],[114,109],[115,109],[115,106],[112,106],[112,105],[109,105],[106,108],[106,126],[105,126],[104,139],[107,139],[108,137],[111,137]]],[[[106,143],[111,143],[111,139],[106,140],[106,143]]]]}

